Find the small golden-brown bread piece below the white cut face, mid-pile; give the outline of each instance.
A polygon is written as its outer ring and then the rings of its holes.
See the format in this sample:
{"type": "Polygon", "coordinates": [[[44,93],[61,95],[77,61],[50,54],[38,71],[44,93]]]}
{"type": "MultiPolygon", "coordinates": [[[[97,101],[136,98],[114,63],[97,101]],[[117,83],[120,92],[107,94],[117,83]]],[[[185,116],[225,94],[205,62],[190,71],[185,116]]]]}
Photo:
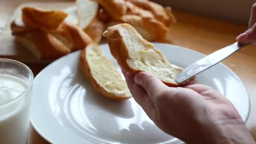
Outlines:
{"type": "Polygon", "coordinates": [[[88,34],[95,43],[99,43],[102,34],[105,30],[105,24],[100,21],[97,17],[89,24],[88,27],[83,29],[86,34],[88,34]]]}

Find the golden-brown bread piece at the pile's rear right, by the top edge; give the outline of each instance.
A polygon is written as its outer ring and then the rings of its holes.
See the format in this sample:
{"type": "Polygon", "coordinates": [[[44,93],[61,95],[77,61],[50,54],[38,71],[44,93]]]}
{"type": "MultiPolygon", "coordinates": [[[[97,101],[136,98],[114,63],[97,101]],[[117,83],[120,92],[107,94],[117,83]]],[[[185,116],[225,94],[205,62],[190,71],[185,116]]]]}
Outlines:
{"type": "Polygon", "coordinates": [[[162,5],[151,2],[149,0],[128,0],[144,10],[154,14],[155,19],[163,22],[167,27],[176,22],[175,16],[171,12],[171,7],[163,8],[162,5]]]}

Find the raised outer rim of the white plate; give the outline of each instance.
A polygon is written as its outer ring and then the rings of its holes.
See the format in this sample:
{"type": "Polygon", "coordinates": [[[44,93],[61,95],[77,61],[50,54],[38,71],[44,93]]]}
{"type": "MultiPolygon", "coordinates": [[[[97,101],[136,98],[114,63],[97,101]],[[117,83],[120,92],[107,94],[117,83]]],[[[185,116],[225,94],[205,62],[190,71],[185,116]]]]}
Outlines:
{"type": "MultiPolygon", "coordinates": [[[[190,51],[190,52],[192,52],[192,53],[197,53],[197,54],[199,54],[199,55],[201,55],[201,56],[207,56],[206,54],[201,53],[201,52],[199,52],[199,51],[195,51],[195,50],[192,50],[192,49],[189,49],[189,48],[186,48],[186,47],[182,47],[182,46],[179,46],[179,45],[173,45],[173,44],[168,44],[168,43],[157,43],[157,42],[152,42],[152,44],[153,44],[153,45],[157,44],[157,45],[172,46],[172,47],[174,47],[174,48],[178,48],[178,49],[190,51]]],[[[108,46],[107,43],[100,44],[101,47],[103,47],[104,45],[107,45],[107,46],[108,46]]],[[[72,54],[74,54],[74,53],[79,53],[80,51],[81,51],[81,50],[74,51],[74,52],[72,52],[72,53],[69,53],[69,54],[67,54],[67,55],[65,55],[65,56],[61,56],[60,58],[58,58],[58,59],[52,61],[50,64],[48,64],[44,69],[42,69],[42,70],[36,75],[36,77],[34,78],[33,83],[35,82],[35,80],[37,80],[37,77],[40,77],[40,75],[42,75],[42,73],[43,73],[43,71],[44,71],[45,69],[48,69],[48,67],[51,67],[51,65],[57,63],[57,62],[60,61],[61,59],[65,59],[65,57],[67,57],[67,56],[69,56],[69,55],[72,55],[72,54]]],[[[248,110],[247,110],[248,112],[247,112],[246,117],[245,117],[245,120],[244,120],[244,123],[246,124],[247,121],[248,121],[250,112],[251,112],[251,99],[250,99],[250,94],[249,94],[249,92],[248,92],[248,90],[247,90],[245,84],[243,83],[243,81],[240,79],[240,77],[239,77],[235,72],[232,71],[232,69],[230,69],[229,67],[227,67],[227,66],[226,66],[225,64],[223,64],[222,62],[220,62],[219,64],[220,64],[222,67],[226,68],[229,72],[231,72],[232,75],[234,75],[235,78],[237,78],[237,80],[241,83],[241,85],[242,85],[243,88],[245,89],[245,92],[246,92],[247,97],[248,97],[248,106],[249,106],[249,107],[248,107],[248,110]]],[[[33,95],[34,95],[34,94],[32,94],[32,96],[33,96],[33,95]]],[[[40,132],[40,130],[37,128],[37,126],[35,125],[34,121],[32,120],[31,115],[29,116],[29,120],[30,120],[30,123],[31,123],[32,127],[35,129],[35,131],[36,131],[40,136],[43,137],[43,139],[45,139],[46,141],[48,141],[48,142],[51,143],[51,144],[54,144],[54,143],[53,143],[50,139],[48,139],[43,133],[40,132]]],[[[181,141],[181,142],[179,142],[178,144],[183,144],[183,143],[184,143],[184,142],[181,141]]]]}

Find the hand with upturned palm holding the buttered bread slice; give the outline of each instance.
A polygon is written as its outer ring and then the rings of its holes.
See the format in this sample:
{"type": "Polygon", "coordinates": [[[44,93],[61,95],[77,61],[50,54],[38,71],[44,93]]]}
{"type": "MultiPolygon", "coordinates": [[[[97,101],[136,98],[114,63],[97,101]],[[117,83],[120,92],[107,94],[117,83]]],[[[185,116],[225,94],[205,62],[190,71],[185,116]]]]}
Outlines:
{"type": "Polygon", "coordinates": [[[190,82],[173,88],[147,72],[124,72],[135,101],[165,133],[190,143],[253,143],[245,123],[218,91],[190,82]]]}

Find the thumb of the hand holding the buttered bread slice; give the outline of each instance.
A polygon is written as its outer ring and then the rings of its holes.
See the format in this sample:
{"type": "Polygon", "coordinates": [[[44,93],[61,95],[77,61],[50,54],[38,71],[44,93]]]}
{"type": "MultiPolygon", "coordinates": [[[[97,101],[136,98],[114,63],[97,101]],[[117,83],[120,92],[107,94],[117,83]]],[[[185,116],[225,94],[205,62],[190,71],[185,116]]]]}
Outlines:
{"type": "Polygon", "coordinates": [[[134,82],[144,88],[149,97],[169,88],[158,77],[149,72],[139,72],[134,76],[134,82]]]}

